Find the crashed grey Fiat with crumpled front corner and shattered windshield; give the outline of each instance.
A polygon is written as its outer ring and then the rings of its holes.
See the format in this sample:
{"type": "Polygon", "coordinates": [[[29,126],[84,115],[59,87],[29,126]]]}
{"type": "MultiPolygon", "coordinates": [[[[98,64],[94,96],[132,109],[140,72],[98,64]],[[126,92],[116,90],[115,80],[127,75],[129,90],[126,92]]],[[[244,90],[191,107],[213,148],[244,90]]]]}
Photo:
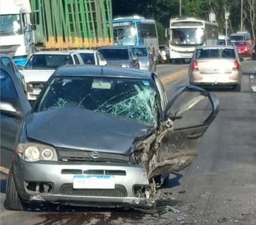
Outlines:
{"type": "Polygon", "coordinates": [[[154,206],[158,187],[193,162],[219,112],[204,89],[183,86],[168,98],[154,72],[99,66],[59,67],[32,109],[21,105],[0,104],[20,121],[9,210],[31,201],[154,206]]]}

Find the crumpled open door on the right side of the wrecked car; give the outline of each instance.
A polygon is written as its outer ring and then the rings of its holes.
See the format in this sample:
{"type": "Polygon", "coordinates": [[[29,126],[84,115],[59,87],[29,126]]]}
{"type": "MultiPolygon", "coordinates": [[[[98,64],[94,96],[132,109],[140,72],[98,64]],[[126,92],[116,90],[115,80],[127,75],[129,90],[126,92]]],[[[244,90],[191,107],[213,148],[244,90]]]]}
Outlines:
{"type": "Polygon", "coordinates": [[[197,156],[203,134],[219,112],[216,95],[204,89],[182,86],[172,96],[144,158],[148,178],[178,172],[190,165],[197,156]]]}

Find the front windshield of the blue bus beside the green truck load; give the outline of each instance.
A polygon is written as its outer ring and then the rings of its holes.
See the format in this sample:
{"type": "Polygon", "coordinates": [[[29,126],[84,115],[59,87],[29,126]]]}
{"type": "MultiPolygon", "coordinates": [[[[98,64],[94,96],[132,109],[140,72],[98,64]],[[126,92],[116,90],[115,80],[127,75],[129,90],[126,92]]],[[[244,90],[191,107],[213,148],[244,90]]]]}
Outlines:
{"type": "Polygon", "coordinates": [[[113,26],[114,40],[116,45],[135,46],[137,45],[135,25],[113,26]]]}

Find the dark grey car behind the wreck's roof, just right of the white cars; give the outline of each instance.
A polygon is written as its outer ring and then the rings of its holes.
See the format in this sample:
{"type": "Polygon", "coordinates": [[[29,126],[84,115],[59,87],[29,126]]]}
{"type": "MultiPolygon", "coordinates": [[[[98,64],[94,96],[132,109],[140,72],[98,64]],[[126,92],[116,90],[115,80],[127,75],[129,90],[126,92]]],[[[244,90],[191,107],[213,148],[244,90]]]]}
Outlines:
{"type": "Polygon", "coordinates": [[[128,46],[103,46],[97,50],[109,66],[139,69],[139,59],[128,46]]]}

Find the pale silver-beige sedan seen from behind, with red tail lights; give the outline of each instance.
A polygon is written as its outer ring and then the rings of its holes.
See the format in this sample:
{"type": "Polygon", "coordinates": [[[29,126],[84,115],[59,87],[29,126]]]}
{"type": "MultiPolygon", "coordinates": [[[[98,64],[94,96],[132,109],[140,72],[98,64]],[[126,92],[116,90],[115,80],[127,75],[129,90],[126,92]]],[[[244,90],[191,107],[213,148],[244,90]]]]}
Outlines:
{"type": "Polygon", "coordinates": [[[233,46],[195,48],[189,66],[189,83],[203,86],[232,86],[241,91],[241,62],[233,46]]]}

